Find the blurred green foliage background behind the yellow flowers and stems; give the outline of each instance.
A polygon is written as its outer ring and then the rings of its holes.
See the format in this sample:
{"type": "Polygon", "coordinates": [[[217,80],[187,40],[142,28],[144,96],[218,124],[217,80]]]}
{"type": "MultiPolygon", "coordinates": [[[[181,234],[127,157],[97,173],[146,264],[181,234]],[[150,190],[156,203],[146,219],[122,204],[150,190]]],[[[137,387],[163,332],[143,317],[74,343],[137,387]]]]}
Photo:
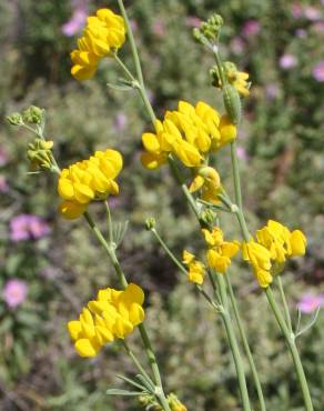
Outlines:
{"type": "MultiPolygon", "coordinates": [[[[179,99],[193,103],[203,99],[221,107],[207,76],[212,58],[194,43],[191,30],[194,18],[205,19],[211,12],[223,16],[223,56],[249,71],[252,80],[239,138],[249,223],[255,229],[275,218],[291,228],[300,227],[308,238],[307,255],[285,274],[293,312],[305,290],[323,291],[324,279],[324,83],[313,77],[313,68],[323,60],[324,14],[317,2],[303,1],[304,8],[313,6],[322,12],[322,21],[294,18],[294,4],[284,0],[126,2],[159,114],[175,108],[179,99]],[[253,36],[246,33],[245,24],[251,20],[260,24],[253,36]],[[284,54],[293,54],[296,67],[283,69],[280,59],[284,54]]],[[[113,1],[90,3],[91,10],[102,6],[117,10],[113,1]]],[[[71,78],[69,52],[75,40],[61,31],[70,16],[70,3],[63,0],[1,2],[1,118],[30,104],[45,108],[47,138],[54,140],[62,167],[97,148],[110,146],[123,153],[121,196],[112,207],[114,219],[130,220],[120,259],[129,278],[146,291],[148,324],[168,389],[179,393],[190,410],[235,410],[235,372],[220,320],[179,279],[143,229],[144,220],[155,217],[161,234],[180,254],[184,248],[200,247],[192,240],[196,239],[194,219],[183,209],[166,168],[156,172],[142,169],[141,133],[151,126],[134,92],[107,89],[107,81],[120,76],[113,62],[107,61],[87,83],[71,78]]],[[[121,56],[132,64],[128,44],[121,56]]],[[[81,220],[67,222],[58,215],[54,179],[27,174],[30,134],[17,132],[4,121],[0,126],[0,148],[7,157],[0,177],[8,184],[1,194],[0,289],[11,278],[20,278],[29,287],[27,301],[17,309],[9,309],[3,298],[0,301],[1,409],[138,410],[136,403],[104,394],[107,388],[118,387],[117,372],[133,372],[123,352],[111,345],[98,359],[82,360],[65,332],[67,321],[99,287],[115,284],[105,255],[81,220]],[[13,243],[10,221],[26,212],[44,218],[51,235],[13,243]]],[[[215,161],[224,184],[231,188],[229,150],[222,150],[215,161]]],[[[104,221],[100,206],[93,210],[98,220],[104,221]]],[[[239,235],[225,218],[224,225],[229,233],[239,235]]],[[[284,343],[245,270],[236,267],[232,277],[269,409],[302,410],[284,343]]],[[[320,314],[316,325],[300,339],[318,411],[324,407],[323,321],[320,314]]],[[[136,337],[133,339],[135,347],[136,337]]],[[[249,382],[255,399],[251,375],[249,382]]]]}

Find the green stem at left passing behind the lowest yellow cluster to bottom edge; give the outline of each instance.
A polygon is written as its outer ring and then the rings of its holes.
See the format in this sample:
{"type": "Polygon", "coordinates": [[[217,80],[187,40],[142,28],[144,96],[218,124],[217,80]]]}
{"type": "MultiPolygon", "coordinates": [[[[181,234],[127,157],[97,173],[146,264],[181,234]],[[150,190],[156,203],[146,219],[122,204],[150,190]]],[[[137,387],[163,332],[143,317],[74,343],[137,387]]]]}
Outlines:
{"type": "MultiPolygon", "coordinates": [[[[109,244],[105,241],[104,237],[102,235],[99,228],[95,225],[95,222],[92,220],[92,218],[91,218],[91,215],[89,214],[88,211],[85,211],[83,215],[84,215],[88,224],[90,225],[91,230],[93,231],[94,235],[97,237],[97,239],[99,240],[101,245],[104,248],[108,257],[110,258],[110,261],[111,261],[111,263],[112,263],[112,265],[115,270],[115,273],[119,277],[119,280],[121,282],[122,288],[125,289],[128,287],[128,281],[126,281],[125,275],[122,271],[122,268],[120,267],[120,263],[118,261],[113,243],[109,244]]],[[[152,344],[150,342],[148,332],[145,330],[145,325],[143,323],[139,324],[139,330],[140,330],[140,334],[141,334],[144,348],[145,348],[145,352],[146,352],[146,355],[148,355],[148,359],[149,359],[149,362],[150,362],[150,365],[151,365],[151,369],[152,369],[152,372],[153,372],[153,375],[154,375],[154,379],[155,379],[156,398],[159,398],[159,400],[161,402],[161,405],[163,407],[164,411],[171,411],[170,407],[168,404],[164,391],[163,391],[163,385],[162,385],[161,375],[160,375],[160,371],[159,371],[159,367],[158,367],[158,361],[156,361],[154,351],[152,349],[152,344]]]]}

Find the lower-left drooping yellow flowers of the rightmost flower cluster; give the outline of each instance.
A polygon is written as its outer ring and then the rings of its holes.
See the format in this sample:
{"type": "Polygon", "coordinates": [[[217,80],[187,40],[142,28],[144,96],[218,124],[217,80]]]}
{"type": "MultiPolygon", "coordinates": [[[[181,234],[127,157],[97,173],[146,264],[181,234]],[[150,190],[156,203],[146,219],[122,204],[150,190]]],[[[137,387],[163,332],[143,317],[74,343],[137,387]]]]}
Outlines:
{"type": "Polygon", "coordinates": [[[252,268],[256,280],[262,288],[266,288],[272,283],[271,270],[271,252],[254,240],[243,242],[242,244],[243,260],[247,261],[252,268]]]}

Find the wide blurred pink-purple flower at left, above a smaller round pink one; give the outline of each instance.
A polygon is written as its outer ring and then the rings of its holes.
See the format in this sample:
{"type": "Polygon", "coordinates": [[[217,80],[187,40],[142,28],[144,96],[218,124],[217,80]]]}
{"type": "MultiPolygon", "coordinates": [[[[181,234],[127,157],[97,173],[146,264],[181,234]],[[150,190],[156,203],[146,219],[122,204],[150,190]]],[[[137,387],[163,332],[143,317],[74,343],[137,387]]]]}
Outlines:
{"type": "Polygon", "coordinates": [[[38,240],[50,233],[48,223],[38,215],[20,214],[10,221],[11,241],[38,240]]]}

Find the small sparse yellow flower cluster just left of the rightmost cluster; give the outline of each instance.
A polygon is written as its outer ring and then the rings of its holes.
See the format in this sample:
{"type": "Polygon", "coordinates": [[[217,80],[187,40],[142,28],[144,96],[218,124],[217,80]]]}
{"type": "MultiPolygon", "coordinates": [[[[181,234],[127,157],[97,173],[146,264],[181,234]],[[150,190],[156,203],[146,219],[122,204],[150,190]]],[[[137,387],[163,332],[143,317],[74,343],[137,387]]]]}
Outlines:
{"type": "Polygon", "coordinates": [[[231,259],[240,250],[239,241],[224,241],[219,227],[214,227],[212,231],[203,229],[202,233],[209,245],[206,253],[209,265],[216,272],[225,273],[231,265],[231,259]]]}

